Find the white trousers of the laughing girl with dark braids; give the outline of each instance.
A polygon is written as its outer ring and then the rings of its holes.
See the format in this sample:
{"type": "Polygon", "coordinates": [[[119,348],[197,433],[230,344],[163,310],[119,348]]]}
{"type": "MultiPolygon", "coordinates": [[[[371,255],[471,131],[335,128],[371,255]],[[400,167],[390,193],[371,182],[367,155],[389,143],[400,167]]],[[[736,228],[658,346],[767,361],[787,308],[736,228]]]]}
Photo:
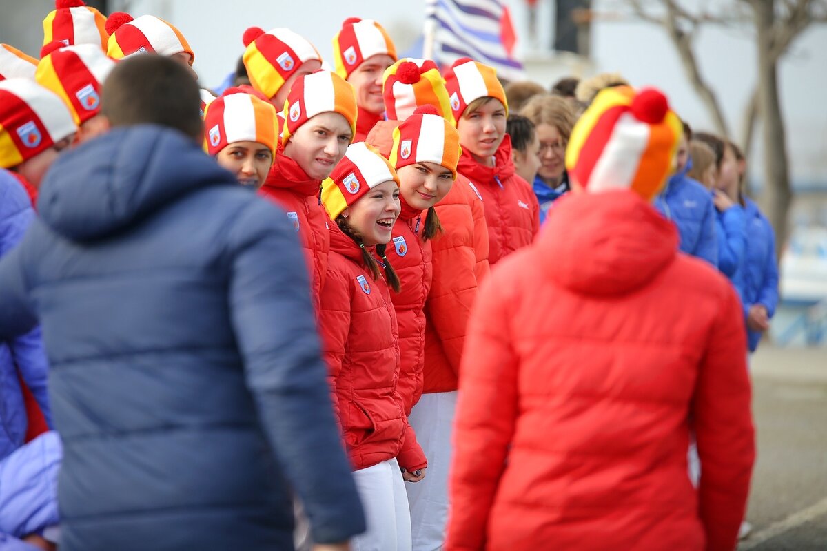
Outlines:
{"type": "Polygon", "coordinates": [[[351,539],[351,550],[410,551],[411,517],[396,459],[354,471],[353,479],[365,508],[367,531],[351,539]]]}

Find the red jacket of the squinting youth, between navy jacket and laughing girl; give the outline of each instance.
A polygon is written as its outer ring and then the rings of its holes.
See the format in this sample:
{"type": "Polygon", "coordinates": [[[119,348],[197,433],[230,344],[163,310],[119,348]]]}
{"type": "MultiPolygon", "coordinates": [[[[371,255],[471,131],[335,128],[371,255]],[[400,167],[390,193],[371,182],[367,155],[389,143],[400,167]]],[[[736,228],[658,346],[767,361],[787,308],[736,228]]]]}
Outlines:
{"type": "Polygon", "coordinates": [[[327,251],[330,250],[330,218],[319,202],[320,180],[308,177],[293,159],[281,151],[259,192],[287,211],[287,216],[301,235],[308,260],[313,304],[318,311],[319,295],[327,273],[327,251]]]}

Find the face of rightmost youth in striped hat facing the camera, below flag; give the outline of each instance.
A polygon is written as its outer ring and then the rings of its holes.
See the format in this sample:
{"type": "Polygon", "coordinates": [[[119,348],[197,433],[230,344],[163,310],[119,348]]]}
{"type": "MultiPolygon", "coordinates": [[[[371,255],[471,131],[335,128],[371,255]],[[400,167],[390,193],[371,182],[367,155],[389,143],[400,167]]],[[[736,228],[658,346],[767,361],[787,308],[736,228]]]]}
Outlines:
{"type": "Polygon", "coordinates": [[[505,136],[505,106],[500,100],[475,107],[472,102],[457,122],[460,145],[480,164],[494,166],[493,156],[505,136]]]}

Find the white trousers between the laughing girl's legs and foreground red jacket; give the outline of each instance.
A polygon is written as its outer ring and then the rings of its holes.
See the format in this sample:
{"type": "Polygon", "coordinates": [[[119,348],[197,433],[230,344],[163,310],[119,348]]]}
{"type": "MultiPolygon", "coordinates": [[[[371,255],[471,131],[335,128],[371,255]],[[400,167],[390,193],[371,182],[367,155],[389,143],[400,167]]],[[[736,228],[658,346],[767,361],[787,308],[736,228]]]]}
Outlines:
{"type": "Polygon", "coordinates": [[[428,470],[419,482],[408,483],[414,551],[436,551],[445,542],[448,519],[448,471],[453,455],[452,435],[457,392],[423,394],[409,423],[428,458],[428,470]]]}

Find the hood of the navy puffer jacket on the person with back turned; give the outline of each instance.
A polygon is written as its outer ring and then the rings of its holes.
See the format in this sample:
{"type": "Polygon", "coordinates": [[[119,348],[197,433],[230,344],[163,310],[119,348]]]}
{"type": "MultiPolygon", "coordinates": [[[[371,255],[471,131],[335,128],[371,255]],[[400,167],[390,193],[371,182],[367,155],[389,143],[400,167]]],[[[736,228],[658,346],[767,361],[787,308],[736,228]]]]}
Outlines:
{"type": "Polygon", "coordinates": [[[129,126],[62,154],[46,175],[37,209],[52,230],[88,241],[131,226],[196,188],[232,183],[231,173],[179,131],[129,126]]]}

